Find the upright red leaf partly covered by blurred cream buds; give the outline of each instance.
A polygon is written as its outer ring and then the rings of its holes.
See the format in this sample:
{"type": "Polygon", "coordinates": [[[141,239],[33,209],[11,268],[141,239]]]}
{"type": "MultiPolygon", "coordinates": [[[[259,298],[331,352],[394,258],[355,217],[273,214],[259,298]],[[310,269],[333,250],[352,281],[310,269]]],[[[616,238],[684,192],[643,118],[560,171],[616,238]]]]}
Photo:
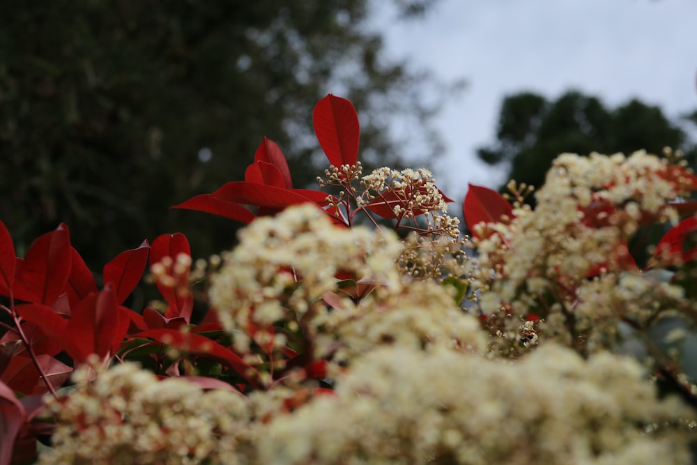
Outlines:
{"type": "MultiPolygon", "coordinates": [[[[180,254],[191,257],[191,249],[186,236],[181,233],[162,234],[153,241],[150,266],[162,262],[165,257],[169,257],[171,263],[176,264],[180,254]]],[[[194,307],[193,296],[189,291],[190,269],[187,267],[185,270],[181,270],[183,273],[175,273],[178,271],[175,268],[176,266],[167,268],[167,275],[174,281],[174,286],[166,286],[159,281],[155,284],[168,304],[165,316],[167,318],[183,317],[188,323],[194,307]]]]}

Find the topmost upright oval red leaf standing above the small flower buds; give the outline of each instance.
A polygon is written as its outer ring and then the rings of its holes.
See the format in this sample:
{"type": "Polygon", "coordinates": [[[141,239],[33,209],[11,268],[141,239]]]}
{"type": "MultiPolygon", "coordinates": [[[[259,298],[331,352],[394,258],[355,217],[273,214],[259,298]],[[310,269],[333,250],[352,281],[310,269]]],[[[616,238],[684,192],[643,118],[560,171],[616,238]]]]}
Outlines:
{"type": "Polygon", "coordinates": [[[335,166],[355,165],[358,161],[360,125],[353,104],[329,94],[312,112],[314,132],[329,162],[335,166]]]}

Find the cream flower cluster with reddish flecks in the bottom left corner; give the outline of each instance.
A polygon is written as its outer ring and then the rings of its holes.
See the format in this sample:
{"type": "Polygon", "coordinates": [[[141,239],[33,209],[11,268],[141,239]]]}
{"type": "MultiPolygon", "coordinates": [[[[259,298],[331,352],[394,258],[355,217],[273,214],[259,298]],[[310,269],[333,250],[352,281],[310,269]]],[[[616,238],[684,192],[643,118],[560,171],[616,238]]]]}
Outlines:
{"type": "Polygon", "coordinates": [[[227,390],[201,390],[183,379],[159,381],[125,363],[75,372],[77,389],[49,408],[53,448],[39,464],[240,464],[251,438],[250,406],[227,390]]]}

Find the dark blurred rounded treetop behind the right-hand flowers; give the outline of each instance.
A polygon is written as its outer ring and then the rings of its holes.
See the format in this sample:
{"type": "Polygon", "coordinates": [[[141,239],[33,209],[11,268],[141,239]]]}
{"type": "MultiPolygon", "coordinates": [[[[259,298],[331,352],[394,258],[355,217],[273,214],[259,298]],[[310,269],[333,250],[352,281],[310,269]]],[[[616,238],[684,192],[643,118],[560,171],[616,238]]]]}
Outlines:
{"type": "Polygon", "coordinates": [[[506,97],[496,137],[477,155],[489,165],[507,167],[507,179],[535,188],[544,183],[552,160],[564,152],[631,153],[643,148],[661,154],[671,146],[684,149],[691,162],[697,152],[680,124],[668,120],[659,107],[631,100],[611,109],[577,91],[553,101],[528,92],[506,97]]]}

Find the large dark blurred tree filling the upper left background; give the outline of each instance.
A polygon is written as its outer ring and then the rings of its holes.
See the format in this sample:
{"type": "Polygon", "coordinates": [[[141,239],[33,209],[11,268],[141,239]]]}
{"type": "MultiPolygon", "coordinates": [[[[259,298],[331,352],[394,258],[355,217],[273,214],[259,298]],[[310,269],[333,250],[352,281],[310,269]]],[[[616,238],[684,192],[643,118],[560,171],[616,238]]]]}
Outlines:
{"type": "MultiPolygon", "coordinates": [[[[413,17],[434,0],[395,0],[413,17]]],[[[369,0],[0,0],[0,219],[20,254],[59,222],[93,268],[182,231],[195,256],[237,227],[169,211],[243,178],[263,135],[311,183],[312,107],[353,100],[362,159],[399,161],[385,114],[420,121],[423,75],[383,56],[369,0]]],[[[438,150],[434,146],[434,153],[438,150]]],[[[422,155],[431,155],[424,153],[422,155]]]]}

